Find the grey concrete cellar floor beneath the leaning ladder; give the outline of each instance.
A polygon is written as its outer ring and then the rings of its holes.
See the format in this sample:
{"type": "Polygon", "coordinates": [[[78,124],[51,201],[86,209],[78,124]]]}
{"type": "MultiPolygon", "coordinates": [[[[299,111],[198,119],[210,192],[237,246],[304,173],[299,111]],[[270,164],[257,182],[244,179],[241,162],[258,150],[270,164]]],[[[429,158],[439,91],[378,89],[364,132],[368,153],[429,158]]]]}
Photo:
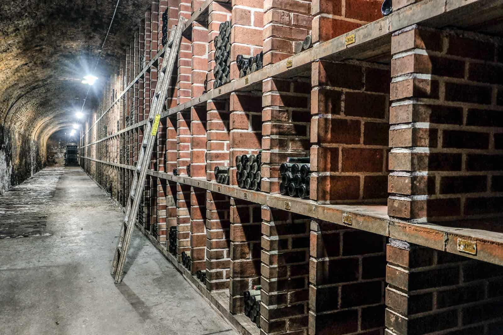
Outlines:
{"type": "Polygon", "coordinates": [[[51,236],[0,240],[0,333],[237,334],[138,230],[114,284],[123,213],[80,168],[47,207],[51,236]]]}

